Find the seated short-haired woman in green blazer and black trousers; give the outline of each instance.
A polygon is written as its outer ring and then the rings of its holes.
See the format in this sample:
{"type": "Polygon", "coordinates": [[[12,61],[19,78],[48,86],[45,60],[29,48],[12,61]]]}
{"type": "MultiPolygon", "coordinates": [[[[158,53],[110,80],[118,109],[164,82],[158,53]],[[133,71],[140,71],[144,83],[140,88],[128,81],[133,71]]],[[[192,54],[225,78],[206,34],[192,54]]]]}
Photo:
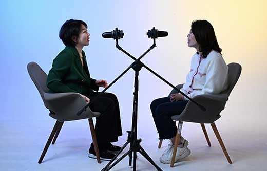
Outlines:
{"type": "MultiPolygon", "coordinates": [[[[82,20],[69,19],[62,25],[59,36],[66,47],[53,60],[47,77],[49,92],[79,93],[89,103],[99,94],[94,91],[98,91],[99,87],[107,87],[107,81],[90,76],[83,51],[83,47],[89,45],[87,25],[82,20]]],[[[117,142],[122,135],[118,99],[114,94],[104,93],[90,105],[90,109],[101,113],[96,118],[95,127],[100,158],[111,160],[121,149],[110,143],[117,142]]],[[[96,158],[93,143],[89,149],[89,157],[96,158]]]]}

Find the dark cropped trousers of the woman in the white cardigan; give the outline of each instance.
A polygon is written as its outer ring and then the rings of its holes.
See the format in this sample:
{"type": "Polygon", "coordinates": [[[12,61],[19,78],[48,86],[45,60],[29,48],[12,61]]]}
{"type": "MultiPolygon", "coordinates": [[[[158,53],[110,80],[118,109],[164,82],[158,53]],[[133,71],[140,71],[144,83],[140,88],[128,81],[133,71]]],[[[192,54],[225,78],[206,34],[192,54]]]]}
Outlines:
{"type": "Polygon", "coordinates": [[[152,101],[150,109],[156,124],[159,139],[170,139],[176,136],[177,126],[171,116],[183,112],[188,101],[170,101],[170,97],[163,97],[152,101]]]}

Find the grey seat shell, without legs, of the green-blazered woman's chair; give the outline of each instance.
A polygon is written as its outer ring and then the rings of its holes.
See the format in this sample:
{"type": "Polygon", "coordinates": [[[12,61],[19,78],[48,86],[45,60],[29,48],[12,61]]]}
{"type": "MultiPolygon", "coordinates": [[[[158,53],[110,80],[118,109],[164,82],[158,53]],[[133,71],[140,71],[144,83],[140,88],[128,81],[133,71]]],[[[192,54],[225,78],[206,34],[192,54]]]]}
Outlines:
{"type": "Polygon", "coordinates": [[[59,121],[70,121],[89,119],[100,115],[99,112],[92,112],[90,108],[87,108],[83,115],[77,116],[75,113],[86,105],[86,102],[78,93],[48,93],[49,89],[46,87],[47,74],[44,70],[36,62],[28,63],[27,69],[52,118],[59,121]]]}

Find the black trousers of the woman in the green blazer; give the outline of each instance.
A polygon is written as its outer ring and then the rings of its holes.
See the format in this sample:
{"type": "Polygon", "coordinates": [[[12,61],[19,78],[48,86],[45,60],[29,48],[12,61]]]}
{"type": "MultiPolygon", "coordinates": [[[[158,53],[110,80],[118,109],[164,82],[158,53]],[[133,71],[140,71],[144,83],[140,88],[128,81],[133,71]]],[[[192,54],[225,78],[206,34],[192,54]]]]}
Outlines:
{"type": "MultiPolygon", "coordinates": [[[[90,92],[86,96],[92,101],[99,92],[90,92]]],[[[93,112],[100,112],[96,117],[95,132],[100,146],[109,142],[117,142],[122,136],[122,126],[120,117],[120,107],[116,95],[104,93],[96,101],[92,102],[90,109],[93,112]]]]}

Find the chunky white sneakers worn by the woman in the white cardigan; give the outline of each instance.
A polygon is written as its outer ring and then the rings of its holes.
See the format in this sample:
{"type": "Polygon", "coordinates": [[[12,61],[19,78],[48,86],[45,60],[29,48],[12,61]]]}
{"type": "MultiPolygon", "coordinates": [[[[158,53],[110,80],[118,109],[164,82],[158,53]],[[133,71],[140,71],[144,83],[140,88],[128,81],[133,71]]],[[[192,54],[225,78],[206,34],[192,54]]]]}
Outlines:
{"type": "MultiPolygon", "coordinates": [[[[170,164],[171,162],[171,157],[173,156],[173,151],[174,151],[174,145],[168,144],[168,148],[163,152],[162,156],[160,157],[160,162],[165,163],[165,164],[170,164]]],[[[191,153],[190,149],[187,148],[186,145],[182,148],[177,148],[176,151],[176,156],[175,156],[175,163],[179,159],[183,159],[187,156],[189,156],[191,153]]]]}

